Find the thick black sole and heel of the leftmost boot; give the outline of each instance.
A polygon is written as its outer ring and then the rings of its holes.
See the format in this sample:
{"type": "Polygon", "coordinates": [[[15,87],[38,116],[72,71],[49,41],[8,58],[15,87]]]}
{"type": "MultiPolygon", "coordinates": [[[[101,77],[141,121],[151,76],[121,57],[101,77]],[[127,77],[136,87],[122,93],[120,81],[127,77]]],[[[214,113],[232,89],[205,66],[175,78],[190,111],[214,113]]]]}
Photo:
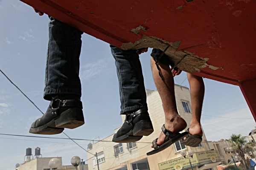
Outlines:
{"type": "Polygon", "coordinates": [[[30,127],[29,133],[54,135],[61,133],[64,128],[74,129],[81,125],[84,125],[83,111],[79,108],[71,108],[42,126],[30,127]]]}

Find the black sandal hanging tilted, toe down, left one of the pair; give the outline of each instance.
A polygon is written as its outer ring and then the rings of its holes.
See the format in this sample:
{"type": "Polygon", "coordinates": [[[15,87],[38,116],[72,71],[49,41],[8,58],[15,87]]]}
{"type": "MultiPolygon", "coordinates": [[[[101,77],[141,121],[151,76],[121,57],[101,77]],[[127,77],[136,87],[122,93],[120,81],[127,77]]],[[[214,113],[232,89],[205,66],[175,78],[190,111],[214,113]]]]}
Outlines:
{"type": "Polygon", "coordinates": [[[147,153],[147,155],[153,155],[155,153],[158,153],[162,150],[165,150],[167,147],[171,146],[172,144],[174,144],[175,142],[179,141],[180,139],[183,139],[184,137],[186,137],[188,135],[188,132],[183,132],[183,133],[172,133],[170,130],[167,130],[165,128],[165,126],[162,126],[162,131],[165,134],[165,139],[163,141],[163,144],[161,144],[160,146],[157,145],[157,139],[154,139],[154,141],[152,142],[154,150],[150,151],[147,153]]]}

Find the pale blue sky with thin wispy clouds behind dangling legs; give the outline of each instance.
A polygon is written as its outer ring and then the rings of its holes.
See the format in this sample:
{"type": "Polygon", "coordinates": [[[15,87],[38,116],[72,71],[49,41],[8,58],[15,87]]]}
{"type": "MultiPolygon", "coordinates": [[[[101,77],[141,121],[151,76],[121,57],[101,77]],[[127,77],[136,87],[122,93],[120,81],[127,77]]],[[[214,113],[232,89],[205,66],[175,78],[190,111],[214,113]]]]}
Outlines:
{"type": "MultiPolygon", "coordinates": [[[[45,112],[44,70],[48,22],[19,0],[0,0],[0,69],[45,112]]],[[[64,130],[71,138],[103,139],[122,125],[114,59],[109,45],[87,34],[82,36],[80,78],[85,125],[64,130]]],[[[145,88],[155,90],[150,68],[150,51],[140,56],[145,88]]],[[[186,73],[175,77],[180,84],[186,73]]],[[[209,141],[229,139],[232,133],[248,135],[256,126],[238,86],[204,79],[206,85],[202,127],[209,141]]],[[[182,84],[189,87],[187,80],[182,84]]],[[[0,73],[0,133],[40,136],[29,127],[42,114],[0,73]]],[[[157,128],[157,127],[155,127],[157,128]]],[[[160,127],[159,127],[160,128],[160,127]]],[[[64,134],[53,137],[66,138],[64,134]]],[[[87,148],[89,141],[77,141],[87,148]]],[[[151,141],[149,141],[151,142],[151,141]]],[[[92,142],[91,142],[92,143],[92,142]]],[[[72,156],[86,160],[86,152],[70,140],[0,135],[0,170],[13,170],[23,163],[26,148],[41,148],[43,157],[61,156],[70,164],[72,156]]]]}

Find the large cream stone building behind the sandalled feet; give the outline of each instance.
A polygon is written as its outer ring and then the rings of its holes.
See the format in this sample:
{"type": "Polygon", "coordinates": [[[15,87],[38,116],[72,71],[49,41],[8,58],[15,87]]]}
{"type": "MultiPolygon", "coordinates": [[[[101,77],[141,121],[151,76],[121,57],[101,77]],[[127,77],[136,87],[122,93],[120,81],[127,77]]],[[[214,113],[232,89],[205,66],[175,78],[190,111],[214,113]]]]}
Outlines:
{"type": "MultiPolygon", "coordinates": [[[[102,139],[100,142],[93,144],[90,153],[96,154],[99,161],[99,170],[188,170],[191,169],[188,156],[186,159],[180,155],[181,150],[193,150],[195,153],[190,158],[193,170],[217,170],[216,166],[221,163],[221,157],[217,148],[210,148],[203,136],[203,141],[198,147],[187,147],[180,142],[160,153],[147,156],[146,153],[151,151],[151,142],[156,139],[164,124],[164,111],[158,91],[146,90],[148,113],[150,115],[154,132],[150,136],[144,136],[138,142],[132,143],[114,143],[112,136],[102,139]],[[211,150],[214,149],[214,150],[211,150]]],[[[192,118],[191,99],[189,88],[175,85],[175,97],[177,110],[180,116],[189,122],[192,118]]],[[[125,116],[122,117],[124,121],[125,116]]],[[[120,128],[120,127],[119,127],[120,128]]],[[[115,129],[116,131],[119,129],[115,129]]],[[[87,153],[89,170],[98,170],[96,157],[87,153]]]]}

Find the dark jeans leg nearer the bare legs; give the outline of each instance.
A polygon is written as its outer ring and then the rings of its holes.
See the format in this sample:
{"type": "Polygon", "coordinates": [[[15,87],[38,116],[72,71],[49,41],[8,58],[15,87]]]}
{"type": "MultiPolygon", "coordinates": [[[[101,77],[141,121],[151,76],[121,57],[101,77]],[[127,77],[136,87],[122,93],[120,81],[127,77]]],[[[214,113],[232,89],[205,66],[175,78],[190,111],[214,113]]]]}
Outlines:
{"type": "Polygon", "coordinates": [[[148,108],[146,92],[139,54],[136,50],[122,50],[110,45],[116,60],[116,71],[119,80],[121,114],[127,111],[148,108]]]}

